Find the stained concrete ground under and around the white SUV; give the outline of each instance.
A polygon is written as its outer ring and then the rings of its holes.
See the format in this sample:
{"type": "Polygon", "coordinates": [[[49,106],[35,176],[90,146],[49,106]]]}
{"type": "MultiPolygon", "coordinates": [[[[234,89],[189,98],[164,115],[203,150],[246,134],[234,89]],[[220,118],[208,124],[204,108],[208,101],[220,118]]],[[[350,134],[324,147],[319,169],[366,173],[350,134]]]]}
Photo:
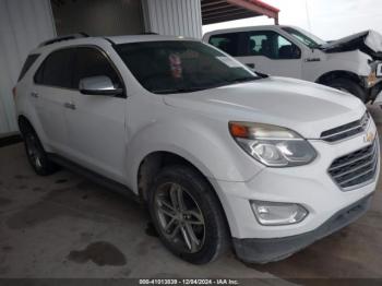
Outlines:
{"type": "Polygon", "coordinates": [[[381,241],[380,183],[363,217],[289,259],[195,266],[163,247],[136,203],[68,170],[36,176],[21,143],[0,148],[0,277],[382,277],[381,241]]]}

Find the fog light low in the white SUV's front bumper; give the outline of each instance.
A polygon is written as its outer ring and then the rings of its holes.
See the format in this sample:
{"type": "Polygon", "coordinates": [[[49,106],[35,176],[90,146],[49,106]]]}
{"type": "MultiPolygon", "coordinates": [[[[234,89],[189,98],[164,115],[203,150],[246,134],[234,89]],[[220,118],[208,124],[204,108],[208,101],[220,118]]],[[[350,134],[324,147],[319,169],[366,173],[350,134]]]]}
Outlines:
{"type": "Polygon", "coordinates": [[[300,223],[308,211],[296,203],[251,201],[255,217],[261,225],[291,225],[300,223]]]}

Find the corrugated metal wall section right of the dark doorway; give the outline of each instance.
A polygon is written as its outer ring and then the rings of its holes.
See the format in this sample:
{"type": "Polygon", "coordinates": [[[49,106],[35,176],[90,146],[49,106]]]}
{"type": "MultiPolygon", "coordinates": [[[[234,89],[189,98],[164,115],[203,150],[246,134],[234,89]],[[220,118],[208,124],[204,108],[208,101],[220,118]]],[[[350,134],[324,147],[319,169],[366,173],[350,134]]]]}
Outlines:
{"type": "Polygon", "coordinates": [[[200,0],[143,0],[146,32],[202,37],[200,0]]]}

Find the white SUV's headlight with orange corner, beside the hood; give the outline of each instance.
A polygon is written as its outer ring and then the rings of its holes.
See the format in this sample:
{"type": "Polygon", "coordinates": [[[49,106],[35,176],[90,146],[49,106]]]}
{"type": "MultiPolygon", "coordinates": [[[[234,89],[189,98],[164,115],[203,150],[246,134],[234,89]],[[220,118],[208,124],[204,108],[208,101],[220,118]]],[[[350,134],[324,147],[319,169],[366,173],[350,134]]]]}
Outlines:
{"type": "Polygon", "coordinates": [[[307,140],[286,128],[251,122],[229,122],[236,142],[268,167],[293,167],[311,163],[317,153],[307,140]]]}

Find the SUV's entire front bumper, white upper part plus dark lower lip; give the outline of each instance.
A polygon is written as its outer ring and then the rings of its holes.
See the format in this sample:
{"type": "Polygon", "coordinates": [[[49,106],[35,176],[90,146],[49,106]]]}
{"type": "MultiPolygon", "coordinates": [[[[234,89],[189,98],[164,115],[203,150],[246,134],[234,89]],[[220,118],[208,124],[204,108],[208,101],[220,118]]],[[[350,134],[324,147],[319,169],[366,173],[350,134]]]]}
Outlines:
{"type": "MultiPolygon", "coordinates": [[[[377,127],[371,122],[367,133],[377,132],[377,127]]],[[[319,156],[306,166],[263,168],[243,182],[211,179],[226,213],[238,255],[256,262],[278,260],[363,214],[366,205],[363,211],[351,212],[353,215],[347,218],[334,218],[338,214],[344,215],[365,198],[370,198],[377,188],[379,163],[373,179],[351,190],[339,189],[327,170],[335,158],[370,145],[367,133],[338,143],[311,140],[319,156]],[[256,221],[250,201],[298,203],[309,214],[297,224],[264,226],[256,221]]]]}

